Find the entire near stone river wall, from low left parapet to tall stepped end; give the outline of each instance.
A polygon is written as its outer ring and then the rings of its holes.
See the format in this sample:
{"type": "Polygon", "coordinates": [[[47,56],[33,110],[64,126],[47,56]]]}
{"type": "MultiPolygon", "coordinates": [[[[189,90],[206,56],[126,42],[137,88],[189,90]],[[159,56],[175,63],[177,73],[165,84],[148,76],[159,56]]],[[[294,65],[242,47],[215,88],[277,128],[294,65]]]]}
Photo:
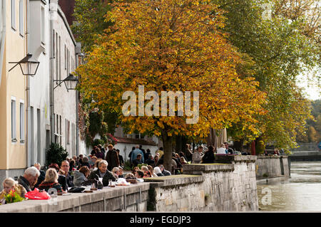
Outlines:
{"type": "Polygon", "coordinates": [[[144,183],[64,194],[50,201],[22,201],[0,212],[81,211],[258,211],[255,156],[217,157],[215,164],[187,164],[182,175],[144,179],[144,183]]]}

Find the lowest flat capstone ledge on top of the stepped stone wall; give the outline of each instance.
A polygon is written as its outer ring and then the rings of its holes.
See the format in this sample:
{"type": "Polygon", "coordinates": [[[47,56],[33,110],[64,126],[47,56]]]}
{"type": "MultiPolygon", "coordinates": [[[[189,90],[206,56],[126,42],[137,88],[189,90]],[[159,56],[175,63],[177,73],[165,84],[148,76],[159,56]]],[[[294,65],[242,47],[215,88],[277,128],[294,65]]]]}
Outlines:
{"type": "Polygon", "coordinates": [[[193,176],[193,175],[171,175],[171,176],[159,176],[144,178],[145,182],[161,182],[163,184],[158,184],[158,186],[177,186],[181,184],[193,184],[200,183],[204,181],[204,176],[193,176]]]}

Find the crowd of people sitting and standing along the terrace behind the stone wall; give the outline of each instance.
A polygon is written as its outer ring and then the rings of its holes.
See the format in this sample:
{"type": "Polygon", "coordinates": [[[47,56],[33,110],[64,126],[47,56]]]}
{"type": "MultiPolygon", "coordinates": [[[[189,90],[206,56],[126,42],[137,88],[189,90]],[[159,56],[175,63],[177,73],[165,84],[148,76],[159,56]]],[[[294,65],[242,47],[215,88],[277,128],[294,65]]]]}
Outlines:
{"type": "Polygon", "coordinates": [[[5,203],[4,196],[14,190],[19,196],[24,198],[28,191],[34,189],[49,191],[56,189],[57,192],[64,193],[68,189],[78,186],[86,186],[101,182],[102,186],[108,186],[110,181],[119,178],[141,179],[146,177],[170,176],[171,174],[181,174],[184,164],[213,163],[216,154],[233,154],[233,149],[224,143],[217,150],[209,146],[206,151],[200,145],[193,152],[190,144],[186,144],[185,152],[172,152],[172,169],[164,168],[163,147],[151,154],[150,149],[143,149],[136,145],[128,155],[130,159],[131,172],[124,172],[124,159],[119,149],[115,149],[109,144],[104,149],[101,144],[93,147],[91,154],[84,157],[67,158],[63,162],[49,165],[46,172],[41,169],[39,163],[34,164],[24,171],[24,176],[19,176],[17,181],[6,178],[3,181],[4,190],[0,193],[0,204],[5,203]]]}

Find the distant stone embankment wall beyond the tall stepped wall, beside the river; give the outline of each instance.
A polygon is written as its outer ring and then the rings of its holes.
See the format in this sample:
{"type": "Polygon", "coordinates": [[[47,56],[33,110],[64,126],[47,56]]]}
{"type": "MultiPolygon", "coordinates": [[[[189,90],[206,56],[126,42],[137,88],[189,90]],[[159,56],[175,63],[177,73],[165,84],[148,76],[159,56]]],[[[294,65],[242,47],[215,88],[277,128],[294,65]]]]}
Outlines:
{"type": "Polygon", "coordinates": [[[290,176],[287,156],[258,156],[255,162],[255,172],[258,179],[290,176]]]}

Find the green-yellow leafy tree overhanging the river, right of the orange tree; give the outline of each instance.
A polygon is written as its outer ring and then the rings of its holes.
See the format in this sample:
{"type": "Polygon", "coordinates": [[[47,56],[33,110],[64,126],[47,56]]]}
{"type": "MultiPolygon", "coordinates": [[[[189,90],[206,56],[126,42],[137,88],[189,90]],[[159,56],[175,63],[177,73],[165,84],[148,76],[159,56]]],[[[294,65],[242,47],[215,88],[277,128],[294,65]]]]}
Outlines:
{"type": "Polygon", "coordinates": [[[254,127],[259,133],[253,134],[244,127],[246,122],[239,121],[228,128],[228,134],[240,141],[239,144],[255,139],[257,143],[290,150],[296,145],[296,135],[305,130],[310,118],[309,101],[295,80],[304,70],[312,70],[320,63],[319,44],[302,30],[307,25],[307,15],[302,13],[292,19],[285,16],[285,9],[281,10],[285,1],[214,2],[225,11],[227,20],[223,31],[230,33],[228,40],[248,62],[238,67],[238,73],[254,77],[260,83],[259,89],[267,94],[263,105],[266,114],[255,116],[258,123],[254,127]],[[263,7],[266,5],[270,5],[267,15],[263,7]]]}

